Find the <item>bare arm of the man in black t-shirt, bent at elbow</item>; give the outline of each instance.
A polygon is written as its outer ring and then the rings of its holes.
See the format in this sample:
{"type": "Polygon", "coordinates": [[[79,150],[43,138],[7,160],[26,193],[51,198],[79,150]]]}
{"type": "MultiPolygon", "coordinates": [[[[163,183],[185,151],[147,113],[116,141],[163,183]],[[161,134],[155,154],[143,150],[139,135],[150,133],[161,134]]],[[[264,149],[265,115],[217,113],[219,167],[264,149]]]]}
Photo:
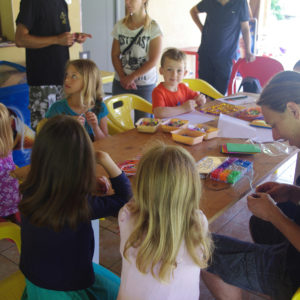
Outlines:
{"type": "Polygon", "coordinates": [[[44,48],[51,45],[72,46],[74,35],[70,32],[64,32],[53,36],[35,36],[29,33],[26,26],[19,23],[15,34],[15,42],[17,47],[32,49],[44,48]]]}

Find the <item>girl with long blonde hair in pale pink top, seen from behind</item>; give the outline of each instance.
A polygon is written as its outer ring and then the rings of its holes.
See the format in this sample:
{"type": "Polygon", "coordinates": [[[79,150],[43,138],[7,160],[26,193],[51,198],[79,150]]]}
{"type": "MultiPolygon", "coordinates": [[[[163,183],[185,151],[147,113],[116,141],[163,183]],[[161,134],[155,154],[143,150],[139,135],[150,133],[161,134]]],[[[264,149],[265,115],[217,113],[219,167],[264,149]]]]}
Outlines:
{"type": "Polygon", "coordinates": [[[212,251],[200,194],[195,161],[182,147],[157,145],[141,158],[134,201],[119,212],[118,299],[198,300],[212,251]]]}

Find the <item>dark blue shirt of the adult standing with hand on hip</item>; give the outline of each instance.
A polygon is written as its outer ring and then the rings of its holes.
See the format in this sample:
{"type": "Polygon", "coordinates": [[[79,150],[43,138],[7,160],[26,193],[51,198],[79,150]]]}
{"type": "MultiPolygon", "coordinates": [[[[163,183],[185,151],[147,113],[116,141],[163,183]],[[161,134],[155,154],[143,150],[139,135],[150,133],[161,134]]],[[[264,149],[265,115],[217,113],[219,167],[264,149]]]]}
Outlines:
{"type": "Polygon", "coordinates": [[[212,57],[235,58],[240,23],[249,21],[247,0],[229,0],[225,5],[218,0],[202,0],[197,9],[207,13],[199,53],[203,51],[212,57]]]}

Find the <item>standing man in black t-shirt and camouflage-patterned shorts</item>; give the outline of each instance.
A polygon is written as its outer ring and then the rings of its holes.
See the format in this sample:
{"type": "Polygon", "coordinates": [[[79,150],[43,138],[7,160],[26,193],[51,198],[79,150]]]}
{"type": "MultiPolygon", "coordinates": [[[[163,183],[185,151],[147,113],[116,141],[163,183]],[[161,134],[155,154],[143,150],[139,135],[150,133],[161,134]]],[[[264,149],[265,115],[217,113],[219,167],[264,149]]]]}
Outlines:
{"type": "Polygon", "coordinates": [[[16,45],[26,48],[31,127],[35,129],[51,104],[63,97],[69,47],[91,36],[70,33],[65,0],[21,0],[16,24],[16,45]]]}

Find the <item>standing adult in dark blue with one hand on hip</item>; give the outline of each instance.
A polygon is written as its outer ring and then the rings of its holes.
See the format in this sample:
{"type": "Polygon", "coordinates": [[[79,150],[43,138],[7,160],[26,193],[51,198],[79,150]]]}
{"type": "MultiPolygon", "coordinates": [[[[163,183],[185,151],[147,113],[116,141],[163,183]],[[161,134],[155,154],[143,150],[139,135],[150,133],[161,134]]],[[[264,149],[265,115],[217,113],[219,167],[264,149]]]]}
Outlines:
{"type": "Polygon", "coordinates": [[[247,0],[202,0],[190,10],[195,24],[202,32],[199,54],[199,78],[225,94],[236,56],[240,32],[245,42],[248,62],[251,53],[249,9],[247,0]],[[199,13],[206,13],[204,25],[199,13]]]}

